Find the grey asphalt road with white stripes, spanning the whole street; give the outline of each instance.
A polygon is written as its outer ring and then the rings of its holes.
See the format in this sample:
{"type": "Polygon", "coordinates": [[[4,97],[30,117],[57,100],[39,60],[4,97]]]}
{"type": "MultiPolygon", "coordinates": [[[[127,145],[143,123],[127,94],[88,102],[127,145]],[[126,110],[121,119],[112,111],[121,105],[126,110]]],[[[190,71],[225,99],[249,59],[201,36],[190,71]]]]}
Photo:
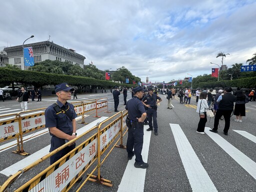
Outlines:
{"type": "MultiPolygon", "coordinates": [[[[77,96],[77,100],[82,100],[79,98],[100,98],[106,97],[106,94],[77,96]]],[[[101,176],[111,180],[112,187],[87,181],[81,191],[256,191],[256,102],[246,103],[246,116],[242,122],[234,121],[235,117],[231,116],[226,136],[222,132],[224,120],[220,120],[217,134],[208,130],[213,127],[214,118],[208,118],[205,134],[196,133],[199,116],[195,111],[194,97],[190,105],[180,104],[178,97],[175,97],[172,109],[167,109],[165,95],[159,96],[162,102],[157,108],[158,136],[147,132],[145,129],[148,126],[144,126],[142,156],[149,167],[146,170],[133,168],[134,158],[128,161],[126,150],[115,147],[101,166],[101,176]]],[[[42,97],[41,102],[30,101],[28,108],[46,107],[54,99],[56,97],[50,96],[42,97]]],[[[11,111],[7,110],[13,109],[20,109],[19,103],[14,100],[0,102],[0,114],[9,113],[11,111]]],[[[120,99],[118,110],[123,109],[120,99]]],[[[113,114],[115,112],[111,110],[110,113],[101,112],[99,115],[113,114]]],[[[93,122],[96,119],[91,114],[85,121],[93,122]]],[[[83,126],[77,121],[78,128],[83,126]]],[[[124,144],[126,138],[127,135],[124,135],[124,144]]],[[[25,142],[24,149],[31,155],[47,146],[49,140],[49,134],[43,134],[25,142]]],[[[0,151],[0,171],[27,157],[12,153],[14,149],[12,147],[0,151]]],[[[48,160],[45,160],[29,174],[24,173],[9,191],[48,165],[48,160]]],[[[6,179],[7,176],[0,173],[0,185],[6,179]]],[[[75,187],[70,191],[75,191],[75,187]]]]}

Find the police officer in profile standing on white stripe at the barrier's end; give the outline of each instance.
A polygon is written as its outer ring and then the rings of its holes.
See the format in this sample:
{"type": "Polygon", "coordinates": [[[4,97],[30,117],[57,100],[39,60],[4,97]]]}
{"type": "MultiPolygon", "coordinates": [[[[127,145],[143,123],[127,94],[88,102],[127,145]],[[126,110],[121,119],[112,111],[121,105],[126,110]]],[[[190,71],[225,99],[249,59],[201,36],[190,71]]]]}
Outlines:
{"type": "Polygon", "coordinates": [[[136,168],[147,168],[148,163],[144,162],[141,156],[141,150],[143,146],[143,123],[146,118],[146,111],[140,98],[143,95],[143,89],[137,86],[132,89],[133,98],[129,99],[125,109],[128,109],[128,118],[126,118],[126,125],[128,126],[128,138],[126,144],[126,150],[128,153],[128,159],[130,160],[135,154],[136,168]],[[134,151],[132,150],[134,147],[134,151]]]}

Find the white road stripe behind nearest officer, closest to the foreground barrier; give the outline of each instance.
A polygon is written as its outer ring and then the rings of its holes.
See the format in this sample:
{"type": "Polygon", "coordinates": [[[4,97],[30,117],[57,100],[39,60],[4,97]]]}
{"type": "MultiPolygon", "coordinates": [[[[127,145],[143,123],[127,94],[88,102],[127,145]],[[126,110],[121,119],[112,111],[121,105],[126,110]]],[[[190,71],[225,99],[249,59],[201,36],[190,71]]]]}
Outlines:
{"type": "MultiPolygon", "coordinates": [[[[92,121],[91,123],[79,128],[76,130],[77,134],[82,134],[83,132],[89,130],[93,126],[95,126],[98,122],[101,122],[108,117],[106,116],[101,116],[100,118],[92,121]]],[[[10,165],[9,167],[4,168],[3,170],[0,171],[0,173],[9,176],[10,174],[16,173],[19,169],[23,169],[24,167],[28,166],[29,164],[33,163],[37,159],[43,157],[44,155],[49,153],[49,148],[50,144],[45,146],[44,148],[36,151],[35,153],[30,154],[29,156],[23,158],[22,160],[10,165]]]]}

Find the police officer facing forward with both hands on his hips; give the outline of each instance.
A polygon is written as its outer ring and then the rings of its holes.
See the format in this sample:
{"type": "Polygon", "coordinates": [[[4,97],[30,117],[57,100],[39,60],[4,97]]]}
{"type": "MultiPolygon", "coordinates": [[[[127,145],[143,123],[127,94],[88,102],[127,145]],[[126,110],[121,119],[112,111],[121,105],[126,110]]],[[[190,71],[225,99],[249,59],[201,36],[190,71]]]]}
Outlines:
{"type": "Polygon", "coordinates": [[[158,135],[156,109],[157,109],[157,103],[161,102],[162,99],[157,94],[153,93],[153,88],[152,87],[148,88],[148,93],[149,94],[145,95],[142,99],[143,104],[147,107],[146,114],[147,114],[147,120],[148,120],[149,128],[147,128],[146,130],[147,131],[153,130],[153,127],[154,127],[154,135],[158,135]],[[158,101],[157,101],[157,99],[158,99],[158,101]],[[146,100],[146,103],[145,103],[145,100],[146,100]],[[152,118],[153,118],[153,126],[152,126],[152,118]]]}

